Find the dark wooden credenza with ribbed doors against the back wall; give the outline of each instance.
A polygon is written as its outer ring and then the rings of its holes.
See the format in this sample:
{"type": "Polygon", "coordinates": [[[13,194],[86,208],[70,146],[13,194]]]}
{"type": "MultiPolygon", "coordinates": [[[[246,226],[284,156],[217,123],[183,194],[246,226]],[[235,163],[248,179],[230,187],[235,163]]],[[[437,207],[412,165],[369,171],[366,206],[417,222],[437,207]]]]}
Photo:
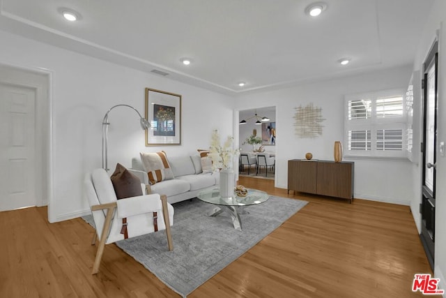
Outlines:
{"type": "Polygon", "coordinates": [[[288,191],[353,200],[355,163],[343,161],[288,161],[288,191]]]}

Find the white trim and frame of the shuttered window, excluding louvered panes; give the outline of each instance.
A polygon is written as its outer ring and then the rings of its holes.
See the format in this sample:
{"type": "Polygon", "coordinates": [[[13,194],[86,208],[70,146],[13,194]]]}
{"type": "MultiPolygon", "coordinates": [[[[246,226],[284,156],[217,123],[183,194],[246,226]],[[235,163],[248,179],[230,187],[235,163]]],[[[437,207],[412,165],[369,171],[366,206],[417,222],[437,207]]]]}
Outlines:
{"type": "Polygon", "coordinates": [[[406,110],[406,89],[387,89],[381,91],[367,92],[361,94],[349,94],[344,98],[344,157],[358,159],[384,159],[384,160],[406,160],[407,161],[407,110],[406,110]],[[403,114],[401,117],[377,118],[376,99],[381,97],[401,96],[403,98],[403,114]],[[349,100],[372,100],[371,118],[369,119],[348,119],[349,100]],[[376,131],[379,129],[401,129],[403,134],[403,144],[401,151],[380,151],[376,150],[376,131]],[[370,130],[371,150],[348,150],[348,131],[370,130]]]}

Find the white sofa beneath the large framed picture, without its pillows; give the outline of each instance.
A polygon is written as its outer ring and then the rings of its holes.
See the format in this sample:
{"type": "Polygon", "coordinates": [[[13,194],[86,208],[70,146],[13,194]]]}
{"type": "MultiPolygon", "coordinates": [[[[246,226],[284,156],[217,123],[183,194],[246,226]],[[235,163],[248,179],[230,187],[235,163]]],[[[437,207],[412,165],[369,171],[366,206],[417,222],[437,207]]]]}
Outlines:
{"type": "MultiPolygon", "coordinates": [[[[183,200],[196,198],[205,188],[218,185],[218,172],[203,173],[200,156],[172,156],[167,158],[174,179],[164,180],[151,185],[152,193],[167,195],[167,202],[174,204],[183,200]]],[[[132,158],[132,168],[128,169],[141,180],[143,184],[150,184],[148,175],[141,163],[141,158],[132,158]]]]}

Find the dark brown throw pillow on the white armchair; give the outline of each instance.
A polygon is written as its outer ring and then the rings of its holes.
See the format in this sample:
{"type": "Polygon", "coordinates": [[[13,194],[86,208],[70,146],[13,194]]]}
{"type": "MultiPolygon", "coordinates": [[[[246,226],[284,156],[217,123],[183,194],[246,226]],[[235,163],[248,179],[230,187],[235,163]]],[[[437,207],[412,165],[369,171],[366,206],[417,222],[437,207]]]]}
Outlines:
{"type": "Polygon", "coordinates": [[[110,179],[118,200],[142,195],[139,178],[120,163],[116,165],[116,170],[114,170],[110,179]]]}

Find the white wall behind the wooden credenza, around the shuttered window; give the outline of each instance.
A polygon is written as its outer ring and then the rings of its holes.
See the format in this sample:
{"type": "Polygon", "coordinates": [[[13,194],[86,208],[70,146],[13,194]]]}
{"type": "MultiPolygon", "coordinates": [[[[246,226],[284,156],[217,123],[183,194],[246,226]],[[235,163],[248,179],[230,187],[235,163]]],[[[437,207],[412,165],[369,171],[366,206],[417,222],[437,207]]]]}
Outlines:
{"type": "MultiPolygon", "coordinates": [[[[287,188],[288,161],[305,158],[333,160],[334,141],[344,140],[344,95],[367,91],[406,89],[412,73],[411,66],[326,80],[299,87],[240,96],[237,110],[276,106],[276,181],[279,188],[287,188]],[[322,107],[323,135],[313,139],[296,137],[295,107],[314,103],[322,107]]],[[[344,158],[344,160],[347,160],[344,158]]],[[[355,198],[410,204],[412,198],[411,164],[409,161],[355,161],[355,198]]]]}

